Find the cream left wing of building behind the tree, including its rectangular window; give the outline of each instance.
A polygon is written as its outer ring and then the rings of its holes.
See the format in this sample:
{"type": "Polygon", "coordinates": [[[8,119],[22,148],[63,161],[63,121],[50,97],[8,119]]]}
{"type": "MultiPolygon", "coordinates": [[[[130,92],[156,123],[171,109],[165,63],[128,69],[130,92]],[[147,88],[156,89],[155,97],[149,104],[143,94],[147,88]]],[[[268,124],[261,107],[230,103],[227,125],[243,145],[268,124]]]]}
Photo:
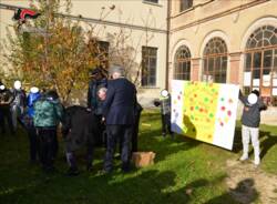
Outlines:
{"type": "MultiPolygon", "coordinates": [[[[0,0],[2,4],[22,8],[29,8],[29,2],[0,0]]],[[[71,13],[66,16],[81,21],[84,29],[93,28],[110,54],[116,43],[122,47],[116,58],[125,55],[126,64],[132,64],[140,88],[138,100],[146,106],[153,105],[153,99],[158,98],[167,84],[167,4],[166,0],[72,0],[71,13]]],[[[64,13],[63,9],[61,7],[60,13],[64,13]]],[[[13,24],[13,12],[0,9],[1,39],[6,38],[6,28],[13,24]]]]}

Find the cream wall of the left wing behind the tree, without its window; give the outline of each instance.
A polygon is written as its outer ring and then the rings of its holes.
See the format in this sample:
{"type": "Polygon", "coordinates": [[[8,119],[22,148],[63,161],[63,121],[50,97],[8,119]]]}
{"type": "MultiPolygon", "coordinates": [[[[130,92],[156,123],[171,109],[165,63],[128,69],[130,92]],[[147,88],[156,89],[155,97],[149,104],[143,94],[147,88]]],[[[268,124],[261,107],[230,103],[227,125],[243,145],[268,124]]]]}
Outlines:
{"type": "MultiPolygon", "coordinates": [[[[29,2],[0,0],[1,3],[25,7],[29,2]]],[[[63,2],[61,2],[63,3],[63,2]]],[[[61,8],[63,12],[64,7],[61,8]]],[[[6,28],[12,24],[13,11],[0,10],[0,39],[6,39],[6,28]]],[[[119,32],[131,34],[126,45],[136,50],[135,62],[142,61],[142,47],[157,48],[156,85],[140,88],[138,101],[151,105],[154,98],[166,86],[166,33],[167,33],[167,0],[150,3],[144,0],[72,0],[71,16],[94,28],[99,40],[109,41],[107,35],[119,32]]],[[[1,54],[2,59],[2,54],[1,54]]]]}

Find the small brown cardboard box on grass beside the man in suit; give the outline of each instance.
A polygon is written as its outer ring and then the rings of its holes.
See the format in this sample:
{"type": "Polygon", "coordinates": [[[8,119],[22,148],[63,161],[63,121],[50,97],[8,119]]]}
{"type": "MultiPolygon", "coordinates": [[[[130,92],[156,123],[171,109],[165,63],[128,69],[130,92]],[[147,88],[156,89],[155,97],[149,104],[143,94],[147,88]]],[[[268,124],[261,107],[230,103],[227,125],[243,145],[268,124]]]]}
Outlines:
{"type": "Polygon", "coordinates": [[[132,161],[136,167],[145,167],[154,164],[155,159],[154,152],[134,152],[132,155],[132,161]]]}

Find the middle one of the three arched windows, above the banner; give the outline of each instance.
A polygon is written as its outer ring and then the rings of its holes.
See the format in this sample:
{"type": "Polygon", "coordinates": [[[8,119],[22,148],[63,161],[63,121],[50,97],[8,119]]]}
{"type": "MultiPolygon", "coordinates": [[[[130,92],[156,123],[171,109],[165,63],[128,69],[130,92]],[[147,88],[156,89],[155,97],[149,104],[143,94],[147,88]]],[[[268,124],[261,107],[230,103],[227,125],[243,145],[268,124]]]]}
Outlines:
{"type": "Polygon", "coordinates": [[[220,38],[213,38],[204,49],[203,81],[226,83],[227,45],[220,38]]]}

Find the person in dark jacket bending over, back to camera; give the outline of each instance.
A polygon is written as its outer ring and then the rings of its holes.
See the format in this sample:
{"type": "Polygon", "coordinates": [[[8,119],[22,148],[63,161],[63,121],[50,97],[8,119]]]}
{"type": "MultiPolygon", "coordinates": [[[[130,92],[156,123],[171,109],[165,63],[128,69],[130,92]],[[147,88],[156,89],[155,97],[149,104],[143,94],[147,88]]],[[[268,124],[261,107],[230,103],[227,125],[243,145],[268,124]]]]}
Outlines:
{"type": "Polygon", "coordinates": [[[64,111],[62,134],[65,142],[68,175],[78,175],[74,152],[86,147],[86,170],[92,171],[94,137],[99,134],[98,119],[83,106],[69,106],[64,111]]]}

